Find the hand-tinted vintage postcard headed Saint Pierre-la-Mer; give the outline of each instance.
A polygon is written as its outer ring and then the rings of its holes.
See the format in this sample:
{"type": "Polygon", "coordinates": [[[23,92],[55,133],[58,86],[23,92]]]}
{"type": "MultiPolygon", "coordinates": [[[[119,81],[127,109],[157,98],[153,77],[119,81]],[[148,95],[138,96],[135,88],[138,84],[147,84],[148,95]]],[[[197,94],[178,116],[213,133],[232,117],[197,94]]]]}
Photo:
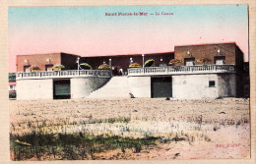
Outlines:
{"type": "Polygon", "coordinates": [[[10,160],[250,159],[247,5],[9,7],[10,160]]]}

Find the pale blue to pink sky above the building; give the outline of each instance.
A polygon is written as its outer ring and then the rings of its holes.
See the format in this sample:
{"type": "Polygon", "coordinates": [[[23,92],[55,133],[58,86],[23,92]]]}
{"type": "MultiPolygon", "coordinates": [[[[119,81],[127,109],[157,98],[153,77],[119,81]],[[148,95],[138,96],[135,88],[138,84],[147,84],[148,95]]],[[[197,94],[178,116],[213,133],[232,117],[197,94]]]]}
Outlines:
{"type": "Polygon", "coordinates": [[[17,55],[143,54],[222,42],[236,42],[248,61],[248,11],[246,5],[10,7],[8,39],[9,72],[16,72],[17,55]],[[118,16],[139,12],[148,15],[118,16]]]}

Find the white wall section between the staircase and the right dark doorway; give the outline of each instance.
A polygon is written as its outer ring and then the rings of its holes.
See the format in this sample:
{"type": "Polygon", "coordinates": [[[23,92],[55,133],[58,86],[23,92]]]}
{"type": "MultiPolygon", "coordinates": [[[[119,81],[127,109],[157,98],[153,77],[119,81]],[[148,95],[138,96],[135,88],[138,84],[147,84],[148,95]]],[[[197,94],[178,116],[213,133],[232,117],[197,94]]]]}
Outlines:
{"type": "Polygon", "coordinates": [[[151,77],[128,77],[128,84],[135,97],[151,97],[151,77]]]}

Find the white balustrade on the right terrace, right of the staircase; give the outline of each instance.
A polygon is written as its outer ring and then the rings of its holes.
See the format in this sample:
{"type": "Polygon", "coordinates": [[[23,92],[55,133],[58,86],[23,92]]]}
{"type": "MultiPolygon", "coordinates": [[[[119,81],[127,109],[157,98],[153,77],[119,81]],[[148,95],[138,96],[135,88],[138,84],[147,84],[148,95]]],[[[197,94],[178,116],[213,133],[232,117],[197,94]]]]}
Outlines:
{"type": "Polygon", "coordinates": [[[234,65],[196,65],[128,69],[128,76],[235,73],[234,65]]]}

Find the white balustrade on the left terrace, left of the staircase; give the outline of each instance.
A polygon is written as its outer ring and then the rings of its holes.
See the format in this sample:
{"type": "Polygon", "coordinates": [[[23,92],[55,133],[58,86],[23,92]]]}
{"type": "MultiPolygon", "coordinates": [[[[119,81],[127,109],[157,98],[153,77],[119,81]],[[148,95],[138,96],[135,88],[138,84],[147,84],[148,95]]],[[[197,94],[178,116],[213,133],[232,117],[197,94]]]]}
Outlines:
{"type": "Polygon", "coordinates": [[[21,79],[51,79],[51,78],[76,78],[76,77],[101,77],[111,78],[111,70],[65,70],[44,71],[31,73],[17,73],[16,80],[21,79]]]}

